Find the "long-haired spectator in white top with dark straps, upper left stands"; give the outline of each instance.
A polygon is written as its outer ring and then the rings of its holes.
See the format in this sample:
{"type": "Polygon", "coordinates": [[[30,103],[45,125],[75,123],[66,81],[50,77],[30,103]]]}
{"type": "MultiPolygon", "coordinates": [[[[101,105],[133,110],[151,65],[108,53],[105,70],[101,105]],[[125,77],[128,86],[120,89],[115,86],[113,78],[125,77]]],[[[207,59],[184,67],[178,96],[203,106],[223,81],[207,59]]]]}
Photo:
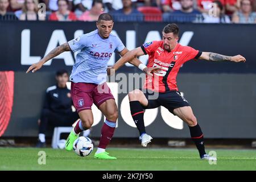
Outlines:
{"type": "Polygon", "coordinates": [[[26,0],[22,7],[20,20],[46,20],[45,16],[38,15],[38,0],[26,0]]]}

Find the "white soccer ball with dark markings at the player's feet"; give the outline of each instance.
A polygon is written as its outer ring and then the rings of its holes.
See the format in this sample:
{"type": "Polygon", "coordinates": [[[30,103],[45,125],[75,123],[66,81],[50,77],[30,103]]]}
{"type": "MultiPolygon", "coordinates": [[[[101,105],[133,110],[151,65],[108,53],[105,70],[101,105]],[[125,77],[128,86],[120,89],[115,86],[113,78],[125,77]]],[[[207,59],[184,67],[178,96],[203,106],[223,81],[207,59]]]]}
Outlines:
{"type": "Polygon", "coordinates": [[[79,137],[73,143],[73,150],[79,156],[87,156],[93,151],[92,140],[88,137],[79,137]]]}

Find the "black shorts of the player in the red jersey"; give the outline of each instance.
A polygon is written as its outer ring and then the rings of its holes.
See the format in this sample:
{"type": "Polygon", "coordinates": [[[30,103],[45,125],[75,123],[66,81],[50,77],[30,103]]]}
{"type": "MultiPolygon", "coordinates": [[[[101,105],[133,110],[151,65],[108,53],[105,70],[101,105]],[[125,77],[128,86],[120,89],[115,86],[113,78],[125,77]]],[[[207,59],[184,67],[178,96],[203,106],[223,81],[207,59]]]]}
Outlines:
{"type": "Polygon", "coordinates": [[[142,92],[148,100],[148,105],[142,106],[143,109],[154,109],[159,106],[164,106],[174,114],[174,109],[190,106],[188,101],[176,90],[169,90],[164,93],[145,92],[145,90],[142,90],[142,92]]]}

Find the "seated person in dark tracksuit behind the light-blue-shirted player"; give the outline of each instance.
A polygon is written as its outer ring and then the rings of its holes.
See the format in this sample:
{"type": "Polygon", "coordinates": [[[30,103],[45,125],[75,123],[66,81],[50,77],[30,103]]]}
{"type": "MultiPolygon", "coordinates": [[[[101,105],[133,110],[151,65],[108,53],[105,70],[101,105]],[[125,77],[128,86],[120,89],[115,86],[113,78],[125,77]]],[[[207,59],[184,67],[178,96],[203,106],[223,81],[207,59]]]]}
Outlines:
{"type": "Polygon", "coordinates": [[[39,137],[36,147],[46,147],[45,133],[48,125],[53,127],[72,126],[79,119],[76,111],[72,111],[71,93],[66,85],[68,72],[65,70],[57,71],[55,78],[57,84],[46,90],[46,100],[40,117],[39,137]]]}

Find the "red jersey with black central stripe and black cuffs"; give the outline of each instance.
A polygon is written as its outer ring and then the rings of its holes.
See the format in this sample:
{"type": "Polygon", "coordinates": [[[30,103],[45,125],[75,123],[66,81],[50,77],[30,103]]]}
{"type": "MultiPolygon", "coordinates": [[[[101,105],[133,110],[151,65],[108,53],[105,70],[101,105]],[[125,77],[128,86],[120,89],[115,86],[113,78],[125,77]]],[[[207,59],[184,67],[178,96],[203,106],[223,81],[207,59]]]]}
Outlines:
{"type": "Polygon", "coordinates": [[[160,67],[162,71],[154,73],[153,77],[146,76],[145,89],[154,92],[167,92],[178,90],[176,77],[181,65],[201,56],[201,52],[189,46],[177,43],[174,50],[168,52],[163,48],[163,40],[148,42],[141,46],[145,55],[148,55],[147,67],[160,67]]]}

